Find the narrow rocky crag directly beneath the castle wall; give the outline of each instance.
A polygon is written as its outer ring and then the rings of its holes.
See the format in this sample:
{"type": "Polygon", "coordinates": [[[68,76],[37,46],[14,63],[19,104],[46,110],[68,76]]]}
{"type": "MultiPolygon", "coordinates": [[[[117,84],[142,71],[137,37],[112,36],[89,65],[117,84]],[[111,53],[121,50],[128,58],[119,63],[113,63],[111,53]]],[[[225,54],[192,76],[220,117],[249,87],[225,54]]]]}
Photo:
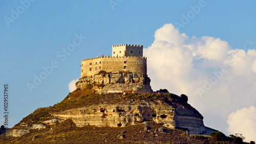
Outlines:
{"type": "Polygon", "coordinates": [[[94,77],[79,79],[76,87],[79,89],[91,86],[98,92],[134,91],[140,93],[152,92],[150,78],[138,73],[98,74],[94,77]]]}

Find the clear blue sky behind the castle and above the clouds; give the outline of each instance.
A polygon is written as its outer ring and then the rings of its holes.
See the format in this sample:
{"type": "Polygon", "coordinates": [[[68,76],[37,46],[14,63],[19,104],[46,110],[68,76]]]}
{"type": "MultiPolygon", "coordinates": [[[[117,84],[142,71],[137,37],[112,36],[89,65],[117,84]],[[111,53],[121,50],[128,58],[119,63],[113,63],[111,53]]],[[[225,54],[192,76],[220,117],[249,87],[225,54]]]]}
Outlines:
{"type": "MultiPolygon", "coordinates": [[[[178,28],[179,33],[197,38],[220,38],[227,41],[231,49],[243,49],[245,39],[256,41],[255,4],[255,1],[245,3],[207,0],[2,0],[0,91],[4,90],[4,84],[9,84],[9,125],[13,127],[38,107],[52,106],[63,100],[69,93],[70,81],[80,77],[82,59],[99,56],[99,53],[111,55],[112,45],[129,44],[130,38],[131,44],[140,44],[147,48],[154,42],[156,30],[165,23],[172,23],[174,26],[177,26],[178,22],[183,23],[184,27],[178,28]],[[20,2],[29,3],[22,5],[20,2]],[[190,15],[186,23],[182,22],[183,14],[189,15],[195,6],[199,6],[200,10],[197,9],[194,15],[190,15]],[[13,11],[19,12],[18,16],[13,14],[13,11]],[[62,49],[67,49],[67,46],[73,43],[75,35],[86,39],[80,41],[70,55],[63,53],[62,49]],[[57,55],[59,51],[66,55],[65,60],[57,55]],[[27,83],[33,83],[34,75],[39,76],[44,71],[42,67],[51,65],[52,61],[55,61],[58,67],[53,68],[52,73],[30,92],[27,83]]],[[[154,79],[150,75],[149,77],[154,79]]],[[[152,87],[153,90],[158,88],[152,87]]],[[[172,92],[172,89],[168,90],[172,92]]],[[[0,112],[3,113],[3,108],[0,112]]],[[[207,119],[207,115],[204,116],[207,119]]],[[[209,118],[205,121],[206,126],[217,127],[216,129],[227,133],[225,128],[213,123],[209,118]]],[[[2,124],[3,121],[0,121],[0,125],[2,124]]]]}

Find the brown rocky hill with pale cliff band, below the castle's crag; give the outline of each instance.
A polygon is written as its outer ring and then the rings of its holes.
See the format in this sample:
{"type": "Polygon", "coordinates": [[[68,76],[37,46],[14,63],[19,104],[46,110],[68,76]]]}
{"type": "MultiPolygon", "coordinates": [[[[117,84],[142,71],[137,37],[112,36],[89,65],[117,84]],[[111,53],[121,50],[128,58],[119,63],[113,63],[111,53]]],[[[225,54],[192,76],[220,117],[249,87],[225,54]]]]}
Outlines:
{"type": "Polygon", "coordinates": [[[168,93],[105,93],[87,88],[38,108],[0,143],[209,143],[203,116],[168,93]]]}

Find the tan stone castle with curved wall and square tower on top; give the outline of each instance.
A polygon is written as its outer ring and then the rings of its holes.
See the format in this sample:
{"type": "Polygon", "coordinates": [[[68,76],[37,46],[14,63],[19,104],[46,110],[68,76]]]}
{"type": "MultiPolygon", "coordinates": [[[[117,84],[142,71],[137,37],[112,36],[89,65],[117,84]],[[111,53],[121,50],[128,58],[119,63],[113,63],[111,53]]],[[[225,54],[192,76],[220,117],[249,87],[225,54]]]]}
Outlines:
{"type": "Polygon", "coordinates": [[[107,73],[130,71],[146,75],[146,58],[143,57],[143,45],[113,45],[112,57],[101,56],[82,60],[81,78],[94,76],[100,70],[107,73]]]}

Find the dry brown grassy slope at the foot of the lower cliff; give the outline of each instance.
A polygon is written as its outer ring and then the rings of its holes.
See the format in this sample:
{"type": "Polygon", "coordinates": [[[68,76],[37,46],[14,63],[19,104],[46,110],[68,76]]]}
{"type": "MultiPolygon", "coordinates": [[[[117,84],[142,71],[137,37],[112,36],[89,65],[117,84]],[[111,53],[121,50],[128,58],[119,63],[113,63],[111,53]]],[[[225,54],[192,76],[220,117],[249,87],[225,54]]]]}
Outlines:
{"type": "MultiPolygon", "coordinates": [[[[205,143],[209,142],[209,138],[196,139],[187,136],[181,130],[172,130],[164,128],[161,125],[148,122],[151,131],[141,134],[144,125],[133,125],[127,127],[95,127],[85,126],[82,128],[75,127],[71,119],[58,124],[52,130],[32,131],[19,138],[11,138],[9,143],[205,143]],[[156,129],[164,128],[168,132],[155,133],[156,129]],[[122,134],[124,138],[117,136],[122,134]],[[33,136],[37,135],[35,140],[33,136]]],[[[7,142],[7,143],[8,143],[7,142]]]]}

